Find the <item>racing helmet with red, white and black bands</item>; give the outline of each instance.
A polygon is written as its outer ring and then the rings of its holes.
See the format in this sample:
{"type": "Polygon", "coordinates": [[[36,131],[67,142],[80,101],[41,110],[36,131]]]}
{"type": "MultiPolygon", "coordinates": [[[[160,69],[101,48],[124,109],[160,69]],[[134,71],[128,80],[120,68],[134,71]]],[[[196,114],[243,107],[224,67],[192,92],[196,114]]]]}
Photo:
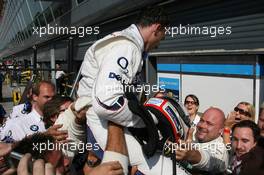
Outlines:
{"type": "Polygon", "coordinates": [[[166,96],[150,98],[144,107],[158,120],[156,127],[162,144],[166,140],[177,143],[179,139],[186,139],[190,120],[178,102],[166,96]]]}

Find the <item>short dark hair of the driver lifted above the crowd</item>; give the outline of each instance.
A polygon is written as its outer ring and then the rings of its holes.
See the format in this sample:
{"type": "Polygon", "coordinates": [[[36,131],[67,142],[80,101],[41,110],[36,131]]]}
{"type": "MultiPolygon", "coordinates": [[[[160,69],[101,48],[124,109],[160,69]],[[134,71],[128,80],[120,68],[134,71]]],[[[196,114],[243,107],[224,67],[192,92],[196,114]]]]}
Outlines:
{"type": "Polygon", "coordinates": [[[166,27],[169,25],[169,17],[161,7],[147,7],[139,13],[136,24],[141,27],[151,24],[160,24],[161,27],[166,27]]]}

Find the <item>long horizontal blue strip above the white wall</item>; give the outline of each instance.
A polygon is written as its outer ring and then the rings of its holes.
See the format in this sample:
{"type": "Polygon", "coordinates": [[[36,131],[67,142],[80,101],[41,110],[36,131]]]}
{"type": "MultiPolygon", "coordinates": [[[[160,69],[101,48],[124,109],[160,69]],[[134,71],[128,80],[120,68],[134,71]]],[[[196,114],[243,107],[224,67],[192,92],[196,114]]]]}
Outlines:
{"type": "MultiPolygon", "coordinates": [[[[180,64],[158,64],[157,67],[158,71],[180,71],[180,64]]],[[[182,64],[181,72],[254,75],[254,66],[234,64],[182,64]]]]}

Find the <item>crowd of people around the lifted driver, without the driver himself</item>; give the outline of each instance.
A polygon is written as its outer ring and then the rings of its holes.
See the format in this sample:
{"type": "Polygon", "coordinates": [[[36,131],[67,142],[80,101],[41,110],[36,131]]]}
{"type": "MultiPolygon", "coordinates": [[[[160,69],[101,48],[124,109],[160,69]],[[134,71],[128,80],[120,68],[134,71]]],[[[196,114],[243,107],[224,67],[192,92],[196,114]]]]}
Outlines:
{"type": "MultiPolygon", "coordinates": [[[[52,149],[48,149],[40,146],[42,143],[54,145],[87,143],[86,112],[92,105],[88,97],[80,97],[74,101],[70,97],[56,95],[55,86],[51,82],[41,81],[34,84],[28,100],[32,104],[30,111],[25,111],[27,103],[14,106],[9,119],[1,127],[2,174],[32,173],[25,168],[32,164],[32,160],[36,160],[31,170],[33,174],[39,174],[41,171],[47,174],[55,171],[62,174],[124,173],[121,163],[111,161],[112,154],[110,161],[102,162],[96,151],[93,152],[90,148],[80,150],[78,147],[53,146],[52,149]],[[34,149],[36,145],[39,147],[34,149]],[[11,151],[24,156],[19,162],[14,161],[10,164],[6,155],[11,151]]],[[[175,157],[177,161],[187,161],[191,165],[191,168],[185,167],[186,170],[192,174],[264,173],[264,104],[259,111],[258,124],[254,122],[254,107],[247,102],[238,103],[234,111],[227,116],[217,107],[210,107],[199,113],[199,99],[193,94],[186,96],[184,105],[191,123],[189,131],[192,128],[194,130],[188,133],[191,135],[190,139],[183,142],[194,144],[195,147],[178,149],[175,157]]],[[[111,130],[119,131],[121,134],[123,132],[123,128],[114,123],[108,126],[108,132],[111,130]]],[[[105,149],[119,150],[115,147],[120,142],[121,145],[126,145],[125,137],[122,139],[114,135],[109,137],[108,134],[105,149]]],[[[98,147],[102,149],[101,145],[98,147]]],[[[134,148],[138,151],[136,147],[134,148]]],[[[129,155],[126,147],[123,148],[123,152],[124,155],[129,155]]],[[[136,174],[138,169],[137,166],[132,166],[127,171],[136,174]]]]}

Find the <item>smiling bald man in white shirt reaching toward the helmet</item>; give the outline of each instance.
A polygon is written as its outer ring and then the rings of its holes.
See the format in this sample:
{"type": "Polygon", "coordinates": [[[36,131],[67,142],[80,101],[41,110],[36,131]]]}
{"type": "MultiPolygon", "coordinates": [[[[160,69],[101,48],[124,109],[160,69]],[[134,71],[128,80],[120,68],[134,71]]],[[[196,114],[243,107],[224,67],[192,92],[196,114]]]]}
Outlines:
{"type": "Polygon", "coordinates": [[[219,108],[207,109],[197,124],[195,141],[187,147],[176,149],[176,159],[192,165],[194,172],[218,174],[228,166],[228,152],[221,134],[224,130],[225,115],[219,108]]]}

